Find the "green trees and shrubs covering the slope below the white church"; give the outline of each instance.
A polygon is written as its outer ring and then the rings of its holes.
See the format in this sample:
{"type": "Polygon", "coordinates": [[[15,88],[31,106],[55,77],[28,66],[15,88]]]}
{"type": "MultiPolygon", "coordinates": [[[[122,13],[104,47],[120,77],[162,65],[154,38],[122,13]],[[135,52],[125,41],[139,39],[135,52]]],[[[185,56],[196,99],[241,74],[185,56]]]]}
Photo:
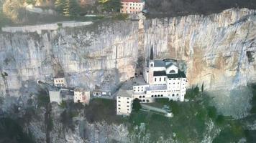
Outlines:
{"type": "Polygon", "coordinates": [[[214,129],[221,129],[214,142],[238,142],[245,137],[252,138],[251,131],[245,134],[240,120],[218,114],[217,109],[211,105],[211,98],[199,92],[198,87],[189,89],[186,98],[191,101],[169,102],[168,99],[156,99],[156,102],[151,104],[157,107],[164,107],[164,105],[170,107],[173,118],[153,112],[132,112],[126,119],[129,122],[130,133],[137,134],[138,131],[135,128],[145,123],[152,142],[157,142],[159,137],[164,139],[173,137],[178,142],[201,142],[208,124],[213,122],[214,129]]]}

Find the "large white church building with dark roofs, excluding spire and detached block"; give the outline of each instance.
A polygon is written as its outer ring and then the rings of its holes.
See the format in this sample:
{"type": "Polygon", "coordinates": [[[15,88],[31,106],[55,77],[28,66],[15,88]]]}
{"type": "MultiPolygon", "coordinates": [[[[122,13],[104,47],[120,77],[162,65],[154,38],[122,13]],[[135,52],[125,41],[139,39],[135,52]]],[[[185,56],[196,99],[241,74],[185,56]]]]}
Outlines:
{"type": "Polygon", "coordinates": [[[153,102],[150,98],[184,101],[187,87],[186,74],[178,69],[177,61],[173,59],[150,60],[147,62],[143,75],[147,84],[133,86],[134,97],[142,94],[142,98],[139,98],[142,102],[153,102]]]}

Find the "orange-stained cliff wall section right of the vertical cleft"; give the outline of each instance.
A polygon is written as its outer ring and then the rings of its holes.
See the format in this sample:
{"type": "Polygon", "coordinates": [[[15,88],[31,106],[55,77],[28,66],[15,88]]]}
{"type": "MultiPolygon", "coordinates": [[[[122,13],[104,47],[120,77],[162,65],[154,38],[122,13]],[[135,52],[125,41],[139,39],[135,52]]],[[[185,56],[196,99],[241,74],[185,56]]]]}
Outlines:
{"type": "Polygon", "coordinates": [[[256,16],[248,9],[145,22],[145,51],[185,61],[190,85],[229,88],[256,81],[256,16]]]}

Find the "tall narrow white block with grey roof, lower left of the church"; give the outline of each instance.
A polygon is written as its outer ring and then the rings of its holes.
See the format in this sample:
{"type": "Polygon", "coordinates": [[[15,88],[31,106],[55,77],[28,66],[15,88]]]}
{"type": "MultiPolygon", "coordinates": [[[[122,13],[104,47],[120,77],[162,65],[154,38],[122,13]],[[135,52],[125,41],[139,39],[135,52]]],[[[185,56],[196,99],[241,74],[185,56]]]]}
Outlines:
{"type": "Polygon", "coordinates": [[[116,95],[116,114],[129,115],[132,112],[132,90],[119,89],[116,95]]]}

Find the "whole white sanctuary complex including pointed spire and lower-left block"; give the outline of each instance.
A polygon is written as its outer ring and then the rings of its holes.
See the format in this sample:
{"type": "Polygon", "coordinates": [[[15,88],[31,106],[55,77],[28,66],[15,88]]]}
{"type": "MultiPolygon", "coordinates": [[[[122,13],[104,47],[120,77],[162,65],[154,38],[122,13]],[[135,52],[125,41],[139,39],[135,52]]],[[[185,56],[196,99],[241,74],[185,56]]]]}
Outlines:
{"type": "Polygon", "coordinates": [[[151,50],[150,60],[146,61],[143,71],[143,78],[139,80],[140,82],[134,82],[132,93],[127,90],[116,95],[116,114],[129,115],[131,109],[125,110],[125,107],[132,107],[132,101],[136,98],[140,99],[141,103],[155,102],[157,98],[184,102],[187,87],[186,74],[180,71],[175,59],[154,60],[151,50]]]}

